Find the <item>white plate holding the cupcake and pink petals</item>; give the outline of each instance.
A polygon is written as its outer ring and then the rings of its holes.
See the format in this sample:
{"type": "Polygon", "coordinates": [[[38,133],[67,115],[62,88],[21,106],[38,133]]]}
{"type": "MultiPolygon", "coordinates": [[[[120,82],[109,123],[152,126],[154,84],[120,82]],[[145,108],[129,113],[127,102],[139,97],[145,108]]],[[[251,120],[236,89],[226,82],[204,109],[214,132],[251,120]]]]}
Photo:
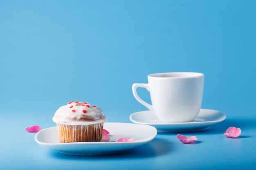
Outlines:
{"type": "Polygon", "coordinates": [[[153,140],[157,129],[153,126],[128,123],[104,123],[104,129],[110,132],[108,142],[76,142],[58,141],[57,127],[46,128],[36,133],[35,140],[41,146],[67,155],[113,155],[134,150],[153,140]],[[138,130],[139,129],[139,130],[138,130]],[[135,138],[133,142],[115,142],[119,137],[135,138]]]}

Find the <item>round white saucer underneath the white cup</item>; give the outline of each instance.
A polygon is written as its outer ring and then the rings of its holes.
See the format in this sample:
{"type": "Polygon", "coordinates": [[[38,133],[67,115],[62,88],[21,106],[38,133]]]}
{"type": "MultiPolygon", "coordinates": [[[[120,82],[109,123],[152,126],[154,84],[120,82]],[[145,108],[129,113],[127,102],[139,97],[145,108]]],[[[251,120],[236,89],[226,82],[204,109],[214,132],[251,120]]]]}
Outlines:
{"type": "Polygon", "coordinates": [[[206,130],[211,125],[226,119],[226,115],[217,110],[201,109],[192,122],[162,123],[150,110],[132,113],[130,120],[136,124],[147,124],[157,128],[158,132],[195,132],[206,130]]]}

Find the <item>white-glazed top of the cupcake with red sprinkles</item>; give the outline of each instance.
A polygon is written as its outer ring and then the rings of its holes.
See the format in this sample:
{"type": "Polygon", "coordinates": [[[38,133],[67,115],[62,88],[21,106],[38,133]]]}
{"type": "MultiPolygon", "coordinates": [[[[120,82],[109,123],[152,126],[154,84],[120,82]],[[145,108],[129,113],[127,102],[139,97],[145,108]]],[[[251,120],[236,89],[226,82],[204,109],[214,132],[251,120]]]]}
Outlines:
{"type": "Polygon", "coordinates": [[[92,106],[87,102],[68,102],[56,110],[52,120],[55,123],[70,125],[94,124],[107,121],[101,108],[92,106]]]}

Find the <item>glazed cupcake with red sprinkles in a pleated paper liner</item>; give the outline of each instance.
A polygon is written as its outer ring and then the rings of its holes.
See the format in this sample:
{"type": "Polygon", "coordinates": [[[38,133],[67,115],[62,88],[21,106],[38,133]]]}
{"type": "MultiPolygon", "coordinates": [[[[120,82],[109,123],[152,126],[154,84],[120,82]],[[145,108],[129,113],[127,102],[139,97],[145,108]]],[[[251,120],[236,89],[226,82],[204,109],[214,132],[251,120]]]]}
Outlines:
{"type": "Polygon", "coordinates": [[[55,112],[60,143],[101,141],[103,123],[108,118],[98,106],[87,102],[69,102],[55,112]]]}

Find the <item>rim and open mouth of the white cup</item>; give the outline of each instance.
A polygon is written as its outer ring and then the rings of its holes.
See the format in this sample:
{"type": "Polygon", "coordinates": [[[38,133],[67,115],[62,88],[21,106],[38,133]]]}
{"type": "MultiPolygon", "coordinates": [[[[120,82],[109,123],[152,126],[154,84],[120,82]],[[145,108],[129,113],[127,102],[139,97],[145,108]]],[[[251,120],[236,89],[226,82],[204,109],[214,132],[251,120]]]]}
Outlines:
{"type": "Polygon", "coordinates": [[[197,72],[166,72],[166,73],[153,73],[148,75],[148,77],[154,78],[172,78],[172,79],[180,79],[180,78],[199,78],[204,77],[203,73],[197,72]]]}

